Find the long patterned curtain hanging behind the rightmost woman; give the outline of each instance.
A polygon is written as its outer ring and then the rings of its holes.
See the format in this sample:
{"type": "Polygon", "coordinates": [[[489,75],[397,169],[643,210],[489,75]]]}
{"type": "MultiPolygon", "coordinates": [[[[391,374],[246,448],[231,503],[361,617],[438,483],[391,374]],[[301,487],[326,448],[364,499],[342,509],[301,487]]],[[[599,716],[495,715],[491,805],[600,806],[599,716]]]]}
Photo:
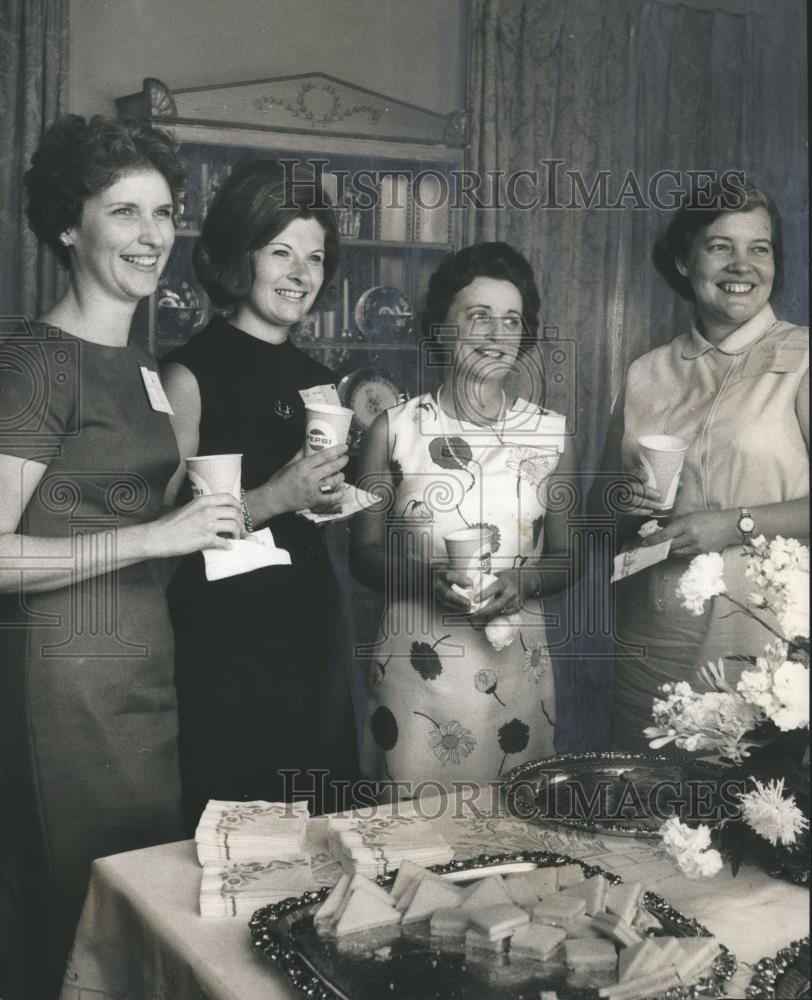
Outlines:
{"type": "MultiPolygon", "coordinates": [[[[808,321],[805,20],[802,0],[472,2],[466,236],[505,240],[534,267],[567,359],[551,374],[543,352],[547,405],[568,414],[587,479],[626,367],[688,318],[651,264],[688,171],[742,171],[772,194],[786,251],[773,306],[808,321]]],[[[547,603],[570,637],[553,651],[561,751],[610,745],[608,569],[596,544],[585,577],[547,603]]]]}

